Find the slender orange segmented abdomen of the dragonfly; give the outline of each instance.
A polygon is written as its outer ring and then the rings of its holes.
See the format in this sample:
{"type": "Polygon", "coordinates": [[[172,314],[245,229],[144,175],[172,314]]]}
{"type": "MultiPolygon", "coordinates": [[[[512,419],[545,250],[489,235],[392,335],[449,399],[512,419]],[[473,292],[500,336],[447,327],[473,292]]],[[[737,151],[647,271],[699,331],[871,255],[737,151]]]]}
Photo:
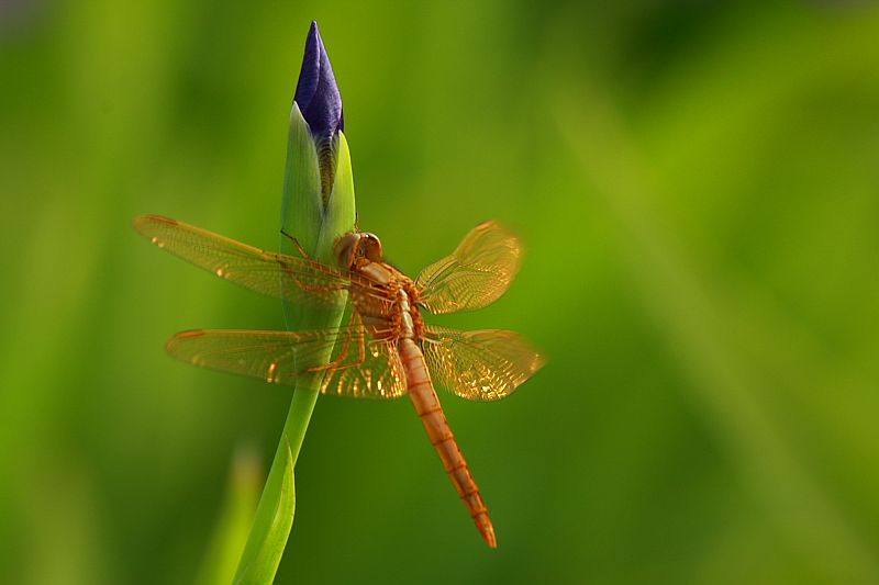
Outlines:
{"type": "Polygon", "coordinates": [[[413,339],[404,337],[400,340],[400,358],[405,370],[409,397],[424,425],[424,430],[427,431],[431,445],[436,449],[443,468],[448,473],[455,491],[464,500],[464,505],[467,506],[479,533],[493,549],[498,543],[494,537],[494,527],[488,516],[488,508],[472,473],[470,473],[470,468],[458,448],[458,442],[452,434],[448,420],[443,414],[439,398],[436,396],[436,391],[427,373],[424,356],[413,339]]]}

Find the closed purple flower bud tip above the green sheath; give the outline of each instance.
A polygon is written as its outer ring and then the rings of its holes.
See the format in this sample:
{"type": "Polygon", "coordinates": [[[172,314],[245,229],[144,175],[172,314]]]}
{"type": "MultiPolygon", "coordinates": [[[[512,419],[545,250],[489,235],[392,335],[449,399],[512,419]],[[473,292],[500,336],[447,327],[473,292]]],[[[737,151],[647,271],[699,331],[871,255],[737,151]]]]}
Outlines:
{"type": "Polygon", "coordinates": [[[335,137],[345,128],[342,117],[342,95],[323,46],[318,23],[312,22],[305,41],[305,55],[296,87],[296,103],[318,142],[335,137]]]}

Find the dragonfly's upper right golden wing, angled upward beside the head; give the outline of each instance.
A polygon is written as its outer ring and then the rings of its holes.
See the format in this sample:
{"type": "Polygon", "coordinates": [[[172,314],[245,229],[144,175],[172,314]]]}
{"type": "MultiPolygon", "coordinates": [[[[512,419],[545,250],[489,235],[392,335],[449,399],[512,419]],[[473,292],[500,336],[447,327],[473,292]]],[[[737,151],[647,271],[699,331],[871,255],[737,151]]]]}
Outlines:
{"type": "Polygon", "coordinates": [[[519,271],[522,247],[500,224],[486,222],[458,248],[422,270],[419,301],[434,314],[471,311],[497,301],[519,271]]]}

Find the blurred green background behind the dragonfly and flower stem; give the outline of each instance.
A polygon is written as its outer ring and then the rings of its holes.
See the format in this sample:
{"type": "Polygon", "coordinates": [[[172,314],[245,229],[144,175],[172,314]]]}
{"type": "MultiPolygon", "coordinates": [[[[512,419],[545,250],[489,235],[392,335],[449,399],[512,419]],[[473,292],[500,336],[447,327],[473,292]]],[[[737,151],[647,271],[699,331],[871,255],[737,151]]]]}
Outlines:
{"type": "Polygon", "coordinates": [[[361,227],[414,275],[512,226],[507,296],[434,323],[550,361],[444,401],[497,551],[407,401],[321,400],[277,582],[879,583],[879,10],[624,4],[3,2],[2,581],[234,567],[290,395],[163,344],[280,304],[130,220],[277,247],[316,19],[361,227]]]}

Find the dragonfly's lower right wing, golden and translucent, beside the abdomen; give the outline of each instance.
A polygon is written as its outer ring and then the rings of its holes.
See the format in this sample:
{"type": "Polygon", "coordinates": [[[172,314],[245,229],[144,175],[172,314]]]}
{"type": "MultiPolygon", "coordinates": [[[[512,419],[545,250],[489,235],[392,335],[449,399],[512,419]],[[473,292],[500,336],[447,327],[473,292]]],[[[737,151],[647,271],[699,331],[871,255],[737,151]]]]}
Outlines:
{"type": "Polygon", "coordinates": [[[514,331],[427,327],[422,350],[434,382],[469,401],[509,396],[546,360],[514,331]]]}

